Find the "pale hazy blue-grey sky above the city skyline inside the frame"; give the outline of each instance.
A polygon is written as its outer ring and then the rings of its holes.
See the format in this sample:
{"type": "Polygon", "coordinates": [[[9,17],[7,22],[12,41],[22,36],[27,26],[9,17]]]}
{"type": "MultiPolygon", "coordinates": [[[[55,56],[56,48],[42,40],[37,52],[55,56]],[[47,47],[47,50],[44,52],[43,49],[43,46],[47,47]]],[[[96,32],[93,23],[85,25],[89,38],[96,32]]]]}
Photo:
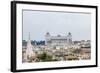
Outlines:
{"type": "Polygon", "coordinates": [[[23,11],[23,40],[44,40],[44,35],[67,36],[73,40],[91,39],[91,14],[70,12],[23,11]]]}

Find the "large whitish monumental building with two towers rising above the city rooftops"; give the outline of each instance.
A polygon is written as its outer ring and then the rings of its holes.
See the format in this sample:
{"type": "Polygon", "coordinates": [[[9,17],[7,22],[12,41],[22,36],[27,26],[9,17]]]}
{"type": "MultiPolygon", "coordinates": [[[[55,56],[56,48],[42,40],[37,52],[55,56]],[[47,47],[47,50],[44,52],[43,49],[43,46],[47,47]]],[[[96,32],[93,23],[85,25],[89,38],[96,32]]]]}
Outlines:
{"type": "Polygon", "coordinates": [[[70,32],[66,36],[52,36],[50,33],[46,33],[45,39],[47,46],[65,47],[72,44],[72,35],[70,32]]]}

